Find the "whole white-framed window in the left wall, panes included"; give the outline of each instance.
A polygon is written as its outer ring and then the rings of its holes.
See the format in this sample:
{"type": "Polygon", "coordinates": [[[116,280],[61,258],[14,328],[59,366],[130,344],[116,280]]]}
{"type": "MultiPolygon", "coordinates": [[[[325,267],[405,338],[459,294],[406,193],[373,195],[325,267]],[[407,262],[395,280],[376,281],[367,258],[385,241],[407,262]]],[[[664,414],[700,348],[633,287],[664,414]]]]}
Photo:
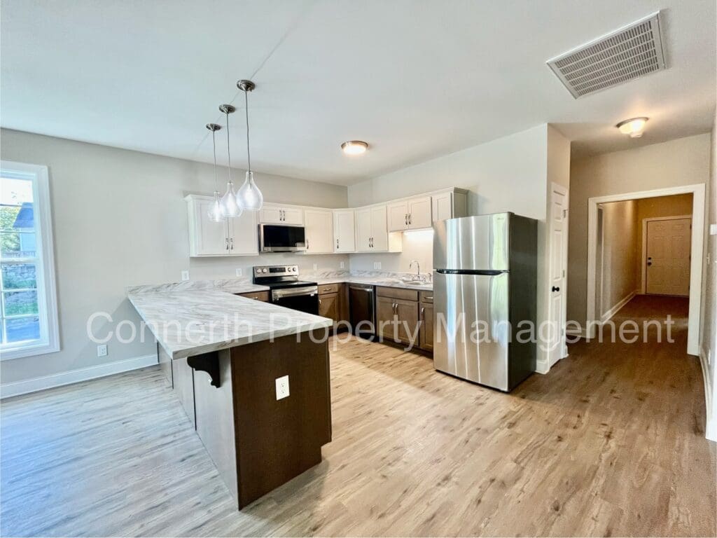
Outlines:
{"type": "Polygon", "coordinates": [[[0,162],[0,355],[60,350],[46,166],[0,162]]]}

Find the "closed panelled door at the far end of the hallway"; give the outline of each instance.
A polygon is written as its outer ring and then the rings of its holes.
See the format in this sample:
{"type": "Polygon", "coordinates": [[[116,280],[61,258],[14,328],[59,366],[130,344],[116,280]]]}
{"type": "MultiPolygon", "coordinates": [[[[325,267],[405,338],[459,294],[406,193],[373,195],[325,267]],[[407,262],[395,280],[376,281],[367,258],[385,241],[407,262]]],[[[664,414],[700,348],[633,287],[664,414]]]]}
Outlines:
{"type": "Polygon", "coordinates": [[[647,280],[654,295],[690,295],[692,219],[647,221],[647,280]]]}

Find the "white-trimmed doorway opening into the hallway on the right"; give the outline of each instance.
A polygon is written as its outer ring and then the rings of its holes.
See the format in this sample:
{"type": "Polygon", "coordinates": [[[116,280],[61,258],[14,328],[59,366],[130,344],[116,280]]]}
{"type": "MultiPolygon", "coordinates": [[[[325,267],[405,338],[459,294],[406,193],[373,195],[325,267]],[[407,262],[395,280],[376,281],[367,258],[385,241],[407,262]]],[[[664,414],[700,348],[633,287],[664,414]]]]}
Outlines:
{"type": "Polygon", "coordinates": [[[683,304],[687,352],[699,354],[704,192],[691,185],[588,200],[587,336],[635,296],[650,296],[683,304]]]}

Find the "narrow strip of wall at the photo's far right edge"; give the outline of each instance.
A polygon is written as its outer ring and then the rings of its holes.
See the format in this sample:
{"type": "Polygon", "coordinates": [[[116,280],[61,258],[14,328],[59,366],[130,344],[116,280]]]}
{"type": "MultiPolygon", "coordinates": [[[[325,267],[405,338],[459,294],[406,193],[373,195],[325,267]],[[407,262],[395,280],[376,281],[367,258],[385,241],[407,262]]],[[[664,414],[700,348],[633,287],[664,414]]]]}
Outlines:
{"type": "MultiPolygon", "coordinates": [[[[710,178],[707,187],[706,225],[717,226],[717,114],[712,128],[710,178]]],[[[703,324],[701,354],[706,368],[706,385],[710,409],[707,412],[707,437],[717,441],[717,235],[707,235],[706,263],[702,273],[702,287],[705,291],[703,303],[703,324]]]]}

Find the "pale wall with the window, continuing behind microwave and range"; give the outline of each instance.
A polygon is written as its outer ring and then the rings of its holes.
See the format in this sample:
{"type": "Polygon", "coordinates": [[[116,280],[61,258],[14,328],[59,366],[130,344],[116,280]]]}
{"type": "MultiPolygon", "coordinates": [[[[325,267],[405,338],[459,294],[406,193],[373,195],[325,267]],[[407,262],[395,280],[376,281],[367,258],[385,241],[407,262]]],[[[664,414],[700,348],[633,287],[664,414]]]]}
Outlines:
{"type": "MultiPolygon", "coordinates": [[[[155,352],[145,344],[108,343],[98,358],[85,325],[95,311],[139,321],[125,286],[191,278],[234,278],[252,265],[298,263],[302,270],[338,268],[343,255],[263,255],[189,259],[184,192],[212,192],[212,166],[106,146],[2,130],[4,160],[49,168],[60,343],[57,353],[0,363],[2,382],[48,376],[155,352]]],[[[226,177],[226,169],[222,169],[226,177]]],[[[243,171],[234,171],[243,178],[243,171]]],[[[346,207],[346,187],[257,173],[267,202],[346,207]]]]}

